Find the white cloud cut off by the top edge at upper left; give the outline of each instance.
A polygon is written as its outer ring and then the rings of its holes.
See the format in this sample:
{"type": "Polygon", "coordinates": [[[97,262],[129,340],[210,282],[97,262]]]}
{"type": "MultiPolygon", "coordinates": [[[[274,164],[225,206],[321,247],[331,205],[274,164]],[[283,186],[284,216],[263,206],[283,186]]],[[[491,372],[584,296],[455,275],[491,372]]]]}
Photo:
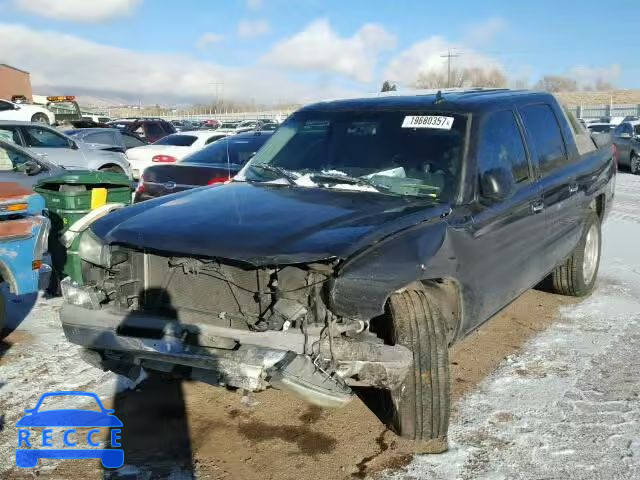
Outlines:
{"type": "Polygon", "coordinates": [[[25,12],[73,22],[103,22],[128,15],[143,0],[13,0],[25,12]]]}

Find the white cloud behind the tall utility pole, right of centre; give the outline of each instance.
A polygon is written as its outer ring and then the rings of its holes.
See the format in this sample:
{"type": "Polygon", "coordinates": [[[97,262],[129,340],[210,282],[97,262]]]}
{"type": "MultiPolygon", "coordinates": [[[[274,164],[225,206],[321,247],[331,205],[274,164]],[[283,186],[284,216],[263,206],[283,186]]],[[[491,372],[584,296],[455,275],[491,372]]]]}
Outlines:
{"type": "Polygon", "coordinates": [[[443,72],[447,68],[449,51],[459,54],[451,60],[455,68],[483,68],[504,70],[500,62],[476,52],[464,44],[452,43],[440,36],[433,36],[410,46],[389,63],[384,77],[394,82],[410,85],[421,73],[443,72]]]}

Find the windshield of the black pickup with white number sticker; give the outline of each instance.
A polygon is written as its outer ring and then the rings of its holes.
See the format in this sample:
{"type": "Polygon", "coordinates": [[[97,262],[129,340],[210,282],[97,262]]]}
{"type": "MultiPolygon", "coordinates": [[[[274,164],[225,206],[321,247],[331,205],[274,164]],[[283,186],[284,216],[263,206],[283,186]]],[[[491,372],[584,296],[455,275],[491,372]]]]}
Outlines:
{"type": "Polygon", "coordinates": [[[238,180],[285,176],[301,187],[448,201],[457,192],[466,127],[466,115],[435,111],[299,112],[238,180]]]}

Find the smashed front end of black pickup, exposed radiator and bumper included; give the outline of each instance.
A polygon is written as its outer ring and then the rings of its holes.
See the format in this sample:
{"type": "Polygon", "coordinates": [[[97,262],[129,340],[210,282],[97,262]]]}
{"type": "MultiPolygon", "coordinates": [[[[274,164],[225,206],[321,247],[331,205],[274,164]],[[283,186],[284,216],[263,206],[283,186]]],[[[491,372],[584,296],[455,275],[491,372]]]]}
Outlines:
{"type": "Polygon", "coordinates": [[[103,245],[91,230],[80,256],[84,284],[63,281],[62,323],[104,369],[272,386],[331,407],[348,402],[352,386],[400,385],[412,365],[411,352],[385,343],[369,319],[330,310],[335,258],[254,266],[103,245]]]}

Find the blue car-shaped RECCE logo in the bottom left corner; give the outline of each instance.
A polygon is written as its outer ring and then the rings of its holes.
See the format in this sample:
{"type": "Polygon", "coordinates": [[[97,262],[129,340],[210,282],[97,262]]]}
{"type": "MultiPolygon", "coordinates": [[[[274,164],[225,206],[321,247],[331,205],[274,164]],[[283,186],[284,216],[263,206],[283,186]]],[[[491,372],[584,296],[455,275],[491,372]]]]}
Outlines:
{"type": "Polygon", "coordinates": [[[111,447],[120,447],[122,422],[113,415],[114,411],[104,408],[95,393],[90,392],[51,392],[40,397],[36,406],[25,410],[26,415],[16,422],[18,427],[18,448],[16,449],[16,466],[33,468],[40,458],[57,460],[95,458],[105,468],[120,468],[124,464],[124,450],[121,448],[101,447],[98,434],[102,429],[110,429],[110,437],[104,443],[111,447]],[[47,410],[41,409],[42,403],[50,397],[89,397],[95,400],[99,410],[83,410],[79,408],[47,410]],[[29,430],[43,427],[42,434],[36,435],[29,430]],[[63,440],[65,448],[55,448],[55,440],[63,440]],[[90,428],[84,434],[76,428],[90,428]],[[62,430],[59,432],[58,430],[62,430]],[[59,437],[59,438],[58,438],[59,437]],[[84,443],[86,440],[87,447],[84,443]],[[37,448],[41,443],[42,448],[37,448]],[[27,448],[22,448],[27,447],[27,448]],[[48,448],[47,448],[48,447],[48,448]],[[54,447],[54,448],[51,448],[54,447]]]}

